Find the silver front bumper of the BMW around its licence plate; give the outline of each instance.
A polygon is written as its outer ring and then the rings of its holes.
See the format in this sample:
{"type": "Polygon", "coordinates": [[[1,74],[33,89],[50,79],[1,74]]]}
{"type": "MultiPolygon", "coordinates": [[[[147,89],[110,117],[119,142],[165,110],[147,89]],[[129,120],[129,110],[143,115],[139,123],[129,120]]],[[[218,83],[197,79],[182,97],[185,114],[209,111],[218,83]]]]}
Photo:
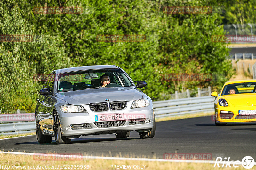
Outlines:
{"type": "MultiPolygon", "coordinates": [[[[83,105],[85,110],[88,113],[64,113],[60,108],[56,108],[61,132],[63,136],[77,136],[77,135],[94,135],[94,134],[111,134],[111,133],[119,133],[124,131],[133,131],[133,130],[145,130],[153,128],[154,113],[153,113],[153,105],[152,102],[149,106],[130,109],[132,105],[132,101],[127,102],[127,107],[123,110],[116,111],[103,111],[103,112],[94,112],[90,109],[89,105],[83,105]],[[117,114],[124,113],[124,119],[120,119],[121,121],[125,121],[123,125],[116,127],[97,127],[94,123],[98,122],[108,122],[106,121],[95,121],[95,115],[99,114],[117,114]],[[133,119],[143,119],[149,118],[149,123],[142,124],[130,124],[130,120],[133,119]],[[87,124],[90,126],[88,129],[66,129],[69,125],[77,125],[77,124],[87,124]]],[[[115,120],[119,121],[119,120],[115,120]]]]}

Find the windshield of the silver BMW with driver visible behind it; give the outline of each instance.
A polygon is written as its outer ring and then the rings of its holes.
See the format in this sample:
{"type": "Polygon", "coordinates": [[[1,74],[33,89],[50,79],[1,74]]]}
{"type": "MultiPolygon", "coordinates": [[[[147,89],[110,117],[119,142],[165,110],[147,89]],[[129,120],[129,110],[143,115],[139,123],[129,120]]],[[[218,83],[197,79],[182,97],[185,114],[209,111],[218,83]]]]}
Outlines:
{"type": "Polygon", "coordinates": [[[84,70],[59,74],[57,92],[127,86],[133,84],[120,69],[84,70]],[[107,82],[105,87],[102,80],[107,82]]]}

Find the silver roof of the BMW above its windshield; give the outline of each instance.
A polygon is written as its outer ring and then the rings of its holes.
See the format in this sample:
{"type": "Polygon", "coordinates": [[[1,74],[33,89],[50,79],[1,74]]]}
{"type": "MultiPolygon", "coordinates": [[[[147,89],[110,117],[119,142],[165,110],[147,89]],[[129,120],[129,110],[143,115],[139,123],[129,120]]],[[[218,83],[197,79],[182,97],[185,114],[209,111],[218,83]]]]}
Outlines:
{"type": "Polygon", "coordinates": [[[82,71],[82,70],[94,70],[94,69],[120,69],[114,65],[98,65],[98,66],[80,66],[80,67],[70,67],[70,68],[62,68],[58,70],[54,70],[52,72],[56,73],[67,73],[73,71],[82,71]]]}

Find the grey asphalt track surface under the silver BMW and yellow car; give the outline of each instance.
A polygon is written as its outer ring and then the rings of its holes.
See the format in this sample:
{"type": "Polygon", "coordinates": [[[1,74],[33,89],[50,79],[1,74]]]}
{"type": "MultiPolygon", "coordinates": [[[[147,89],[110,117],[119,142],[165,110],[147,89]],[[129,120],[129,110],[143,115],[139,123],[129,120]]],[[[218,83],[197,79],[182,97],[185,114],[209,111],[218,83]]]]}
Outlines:
{"type": "Polygon", "coordinates": [[[256,158],[256,124],[227,124],[215,126],[211,117],[197,117],[156,123],[156,135],[141,139],[132,131],[129,138],[117,139],[114,134],[81,136],[70,144],[39,144],[36,135],[0,140],[1,151],[30,153],[82,153],[90,156],[130,156],[163,158],[164,153],[211,153],[242,160],[256,158]]]}

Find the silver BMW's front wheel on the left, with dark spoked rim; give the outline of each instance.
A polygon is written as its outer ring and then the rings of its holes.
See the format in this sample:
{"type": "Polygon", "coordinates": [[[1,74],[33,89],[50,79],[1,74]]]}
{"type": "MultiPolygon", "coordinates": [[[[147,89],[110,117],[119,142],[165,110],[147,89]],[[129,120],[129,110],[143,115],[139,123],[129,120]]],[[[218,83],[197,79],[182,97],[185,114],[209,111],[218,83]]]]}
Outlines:
{"type": "Polygon", "coordinates": [[[59,122],[56,111],[54,111],[54,114],[53,114],[53,131],[54,131],[54,138],[57,144],[69,144],[71,142],[71,139],[68,139],[65,136],[62,136],[61,134],[60,122],[59,122]]]}

